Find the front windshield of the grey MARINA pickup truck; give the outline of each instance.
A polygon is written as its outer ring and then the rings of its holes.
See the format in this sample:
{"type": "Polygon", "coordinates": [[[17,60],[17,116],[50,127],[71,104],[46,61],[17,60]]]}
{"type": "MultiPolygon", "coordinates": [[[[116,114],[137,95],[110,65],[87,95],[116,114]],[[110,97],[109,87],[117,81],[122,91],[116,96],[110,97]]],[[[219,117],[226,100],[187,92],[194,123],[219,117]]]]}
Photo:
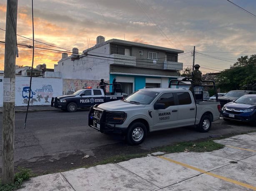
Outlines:
{"type": "Polygon", "coordinates": [[[125,98],[124,101],[129,103],[148,105],[154,98],[156,98],[157,95],[158,92],[138,90],[125,98]]]}

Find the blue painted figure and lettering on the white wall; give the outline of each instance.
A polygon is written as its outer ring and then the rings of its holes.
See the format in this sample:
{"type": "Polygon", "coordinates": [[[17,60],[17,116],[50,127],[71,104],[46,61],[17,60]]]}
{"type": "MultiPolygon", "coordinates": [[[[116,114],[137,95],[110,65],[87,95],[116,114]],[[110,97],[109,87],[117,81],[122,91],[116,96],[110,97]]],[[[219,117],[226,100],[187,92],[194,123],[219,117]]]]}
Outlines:
{"type": "Polygon", "coordinates": [[[18,91],[22,89],[23,104],[28,104],[28,98],[30,97],[30,104],[34,102],[50,103],[50,98],[53,97],[53,87],[51,84],[42,84],[40,87],[34,90],[28,84],[22,84],[22,87],[18,88],[18,91]],[[29,96],[30,93],[30,96],[29,96]]]}

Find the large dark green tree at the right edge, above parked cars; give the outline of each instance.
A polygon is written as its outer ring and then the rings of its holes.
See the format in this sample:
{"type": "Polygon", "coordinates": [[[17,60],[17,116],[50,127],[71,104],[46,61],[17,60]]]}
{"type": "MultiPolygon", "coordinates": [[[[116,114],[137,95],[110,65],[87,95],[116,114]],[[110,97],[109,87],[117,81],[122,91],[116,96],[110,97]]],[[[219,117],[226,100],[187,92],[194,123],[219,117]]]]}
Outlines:
{"type": "Polygon", "coordinates": [[[222,91],[240,89],[241,86],[256,82],[256,54],[241,56],[230,69],[217,76],[218,87],[222,91]]]}

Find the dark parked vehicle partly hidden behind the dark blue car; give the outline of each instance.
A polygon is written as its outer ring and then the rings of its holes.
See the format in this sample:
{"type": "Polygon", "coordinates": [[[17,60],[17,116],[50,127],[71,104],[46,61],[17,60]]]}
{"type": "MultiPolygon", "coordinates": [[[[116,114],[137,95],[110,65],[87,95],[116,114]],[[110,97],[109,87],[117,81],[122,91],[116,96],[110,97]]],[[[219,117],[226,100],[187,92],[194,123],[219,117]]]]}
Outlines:
{"type": "Polygon", "coordinates": [[[248,90],[232,90],[225,94],[225,96],[222,96],[218,98],[218,100],[221,103],[221,108],[228,102],[234,101],[237,98],[246,95],[246,94],[256,94],[256,91],[248,91],[248,90]]]}

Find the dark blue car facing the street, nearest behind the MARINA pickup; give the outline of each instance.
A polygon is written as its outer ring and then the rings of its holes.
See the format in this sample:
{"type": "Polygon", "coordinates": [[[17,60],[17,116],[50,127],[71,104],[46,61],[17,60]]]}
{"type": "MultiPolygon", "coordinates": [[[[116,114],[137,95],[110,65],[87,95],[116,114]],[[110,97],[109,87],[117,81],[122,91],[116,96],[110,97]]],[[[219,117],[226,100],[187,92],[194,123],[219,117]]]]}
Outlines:
{"type": "Polygon", "coordinates": [[[256,95],[244,95],[221,109],[224,120],[251,122],[256,125],[256,95]]]}

